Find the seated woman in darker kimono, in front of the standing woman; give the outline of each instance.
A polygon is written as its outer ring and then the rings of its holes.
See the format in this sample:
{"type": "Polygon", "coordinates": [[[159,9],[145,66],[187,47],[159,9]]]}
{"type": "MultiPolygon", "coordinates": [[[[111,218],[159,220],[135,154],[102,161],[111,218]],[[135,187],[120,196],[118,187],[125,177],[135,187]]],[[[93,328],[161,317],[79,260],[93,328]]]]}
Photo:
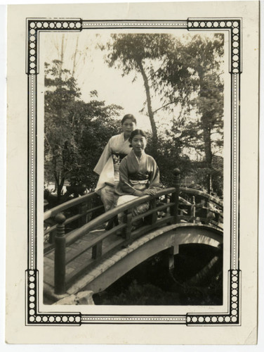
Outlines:
{"type": "MultiPolygon", "coordinates": [[[[119,196],[117,206],[146,194],[154,195],[160,189],[159,168],[152,156],[145,153],[147,138],[142,130],[134,130],[129,138],[132,151],[120,163],[119,184],[115,193],[119,196]]],[[[149,208],[149,203],[140,204],[132,210],[136,216],[149,208]]],[[[119,215],[123,222],[123,215],[119,215]]]]}

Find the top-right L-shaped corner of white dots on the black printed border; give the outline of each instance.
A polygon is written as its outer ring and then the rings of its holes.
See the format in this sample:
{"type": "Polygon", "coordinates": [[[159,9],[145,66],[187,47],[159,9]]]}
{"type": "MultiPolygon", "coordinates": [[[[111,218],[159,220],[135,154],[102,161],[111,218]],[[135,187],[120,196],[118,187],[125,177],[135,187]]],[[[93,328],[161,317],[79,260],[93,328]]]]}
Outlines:
{"type": "Polygon", "coordinates": [[[242,73],[242,19],[189,19],[188,30],[228,30],[230,32],[230,73],[242,73]]]}

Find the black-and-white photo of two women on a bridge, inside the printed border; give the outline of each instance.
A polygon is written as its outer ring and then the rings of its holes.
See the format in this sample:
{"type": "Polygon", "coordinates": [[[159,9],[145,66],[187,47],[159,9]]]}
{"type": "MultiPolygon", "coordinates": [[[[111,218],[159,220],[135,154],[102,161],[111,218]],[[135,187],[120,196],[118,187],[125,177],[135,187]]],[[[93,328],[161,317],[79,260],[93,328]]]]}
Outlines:
{"type": "Polygon", "coordinates": [[[46,304],[222,305],[224,34],[174,32],[41,42],[46,304]]]}

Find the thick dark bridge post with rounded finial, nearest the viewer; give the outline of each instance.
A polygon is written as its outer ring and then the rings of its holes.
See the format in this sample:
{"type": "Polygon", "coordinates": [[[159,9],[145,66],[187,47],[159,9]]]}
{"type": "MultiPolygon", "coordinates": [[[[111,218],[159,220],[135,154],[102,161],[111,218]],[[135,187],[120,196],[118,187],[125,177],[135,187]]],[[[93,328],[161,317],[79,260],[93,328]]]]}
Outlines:
{"type": "Polygon", "coordinates": [[[59,213],[55,216],[57,233],[55,234],[54,258],[54,289],[55,294],[65,294],[65,216],[59,213]]]}

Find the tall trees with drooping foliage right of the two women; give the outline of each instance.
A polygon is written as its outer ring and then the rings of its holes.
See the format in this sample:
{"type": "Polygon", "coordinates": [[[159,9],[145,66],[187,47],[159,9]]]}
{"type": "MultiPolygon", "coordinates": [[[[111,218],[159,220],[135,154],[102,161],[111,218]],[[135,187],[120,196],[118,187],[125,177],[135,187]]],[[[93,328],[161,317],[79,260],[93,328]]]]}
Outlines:
{"type": "Polygon", "coordinates": [[[206,172],[199,179],[211,191],[220,172],[213,168],[213,153],[223,148],[223,35],[177,39],[171,34],[112,34],[108,50],[110,66],[121,69],[122,75],[135,73],[134,80],[138,74],[143,77],[153,135],[149,150],[157,158],[164,183],[171,180],[169,173],[176,166],[183,175],[192,172],[190,154],[195,151],[196,164],[199,161],[202,174],[206,172]],[[161,102],[159,108],[152,108],[153,97],[161,102]],[[164,135],[155,120],[161,111],[173,117],[173,126],[164,135]]]}

